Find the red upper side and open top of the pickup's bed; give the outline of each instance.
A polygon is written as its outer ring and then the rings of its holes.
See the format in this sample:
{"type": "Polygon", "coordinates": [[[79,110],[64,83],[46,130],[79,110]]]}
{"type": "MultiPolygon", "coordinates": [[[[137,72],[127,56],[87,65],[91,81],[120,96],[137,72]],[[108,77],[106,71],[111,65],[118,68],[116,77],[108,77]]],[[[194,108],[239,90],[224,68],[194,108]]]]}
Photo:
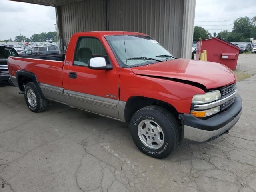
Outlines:
{"type": "Polygon", "coordinates": [[[8,69],[11,76],[18,70],[36,74],[38,82],[63,87],[62,68],[65,54],[32,55],[8,58],[8,69]]]}

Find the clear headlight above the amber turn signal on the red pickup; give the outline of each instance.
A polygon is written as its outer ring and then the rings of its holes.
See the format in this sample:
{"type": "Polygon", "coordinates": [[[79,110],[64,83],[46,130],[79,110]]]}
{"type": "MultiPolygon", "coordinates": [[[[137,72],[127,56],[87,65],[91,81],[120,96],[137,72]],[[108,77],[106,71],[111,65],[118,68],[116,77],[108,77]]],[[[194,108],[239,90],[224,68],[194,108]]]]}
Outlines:
{"type": "Polygon", "coordinates": [[[219,90],[211,91],[205,94],[198,94],[194,95],[192,103],[209,103],[220,99],[220,96],[221,94],[219,90]]]}

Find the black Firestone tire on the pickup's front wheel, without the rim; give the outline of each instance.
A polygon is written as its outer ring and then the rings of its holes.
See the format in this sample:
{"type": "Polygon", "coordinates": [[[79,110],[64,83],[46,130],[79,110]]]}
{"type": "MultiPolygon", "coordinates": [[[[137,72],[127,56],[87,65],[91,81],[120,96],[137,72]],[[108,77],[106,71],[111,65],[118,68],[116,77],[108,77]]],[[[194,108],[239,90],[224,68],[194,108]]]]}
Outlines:
{"type": "MultiPolygon", "coordinates": [[[[181,127],[176,118],[165,108],[156,105],[146,106],[138,110],[132,116],[130,122],[130,131],[132,134],[132,139],[139,150],[141,150],[144,154],[159,159],[169,156],[179,146],[181,140],[181,127]],[[142,140],[140,139],[138,127],[140,126],[140,123],[143,124],[143,122],[146,120],[154,121],[156,125],[158,124],[162,129],[164,139],[162,140],[162,146],[158,149],[149,148],[142,142],[143,138],[142,140]]],[[[149,134],[152,136],[152,133],[154,132],[148,132],[148,136],[149,134]]],[[[145,136],[146,135],[143,136],[144,139],[148,140],[148,138],[145,136]]]]}

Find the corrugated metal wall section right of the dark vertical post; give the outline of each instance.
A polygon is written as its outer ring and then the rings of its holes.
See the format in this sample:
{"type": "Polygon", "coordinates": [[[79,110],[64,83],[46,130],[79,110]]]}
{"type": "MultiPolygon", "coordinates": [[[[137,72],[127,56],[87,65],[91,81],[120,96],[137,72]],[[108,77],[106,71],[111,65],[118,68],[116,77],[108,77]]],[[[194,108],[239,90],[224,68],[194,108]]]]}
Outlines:
{"type": "Polygon", "coordinates": [[[181,56],[184,0],[109,0],[109,30],[146,33],[181,56]]]}

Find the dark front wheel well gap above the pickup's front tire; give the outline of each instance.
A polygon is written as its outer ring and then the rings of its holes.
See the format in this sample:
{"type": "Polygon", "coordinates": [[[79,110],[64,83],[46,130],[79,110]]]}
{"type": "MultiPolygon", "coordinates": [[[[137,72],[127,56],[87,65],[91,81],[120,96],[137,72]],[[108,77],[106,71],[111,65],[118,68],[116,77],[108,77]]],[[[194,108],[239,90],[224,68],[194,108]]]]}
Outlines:
{"type": "Polygon", "coordinates": [[[174,106],[161,100],[156,100],[156,99],[142,97],[142,96],[134,96],[132,98],[129,98],[128,102],[126,102],[126,106],[124,110],[125,121],[130,122],[133,114],[136,111],[150,105],[162,106],[163,108],[168,110],[170,113],[172,113],[175,118],[178,119],[178,111],[174,108],[174,106]]]}

